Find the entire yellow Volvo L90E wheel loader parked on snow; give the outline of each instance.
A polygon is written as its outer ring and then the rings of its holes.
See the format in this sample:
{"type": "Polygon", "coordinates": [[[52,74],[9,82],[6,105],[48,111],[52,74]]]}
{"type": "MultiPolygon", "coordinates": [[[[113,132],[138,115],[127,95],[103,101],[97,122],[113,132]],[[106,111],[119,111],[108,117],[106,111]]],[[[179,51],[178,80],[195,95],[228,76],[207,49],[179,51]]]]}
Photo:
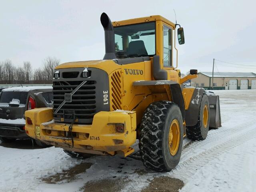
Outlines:
{"type": "Polygon", "coordinates": [[[102,13],[100,21],[103,60],[57,66],[53,108],[26,111],[26,133],[75,157],[128,156],[138,139],[144,165],[170,171],[185,136],[203,140],[209,125],[221,126],[219,98],[183,86],[197,70],[182,78],[177,69],[179,24],[158,15],[111,22],[102,13]]]}

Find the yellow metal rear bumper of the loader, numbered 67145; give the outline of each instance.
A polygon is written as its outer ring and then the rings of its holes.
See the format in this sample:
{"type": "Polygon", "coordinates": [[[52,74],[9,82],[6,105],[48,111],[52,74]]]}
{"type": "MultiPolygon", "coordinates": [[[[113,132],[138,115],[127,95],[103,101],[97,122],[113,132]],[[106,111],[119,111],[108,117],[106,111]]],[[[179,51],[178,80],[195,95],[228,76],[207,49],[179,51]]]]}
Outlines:
{"type": "Polygon", "coordinates": [[[70,124],[55,123],[51,108],[28,110],[25,117],[32,120],[32,125],[26,123],[26,133],[47,144],[66,150],[92,153],[121,153],[124,156],[132,153],[130,148],[136,141],[136,113],[133,111],[105,112],[94,115],[92,124],[74,124],[71,137],[68,137],[70,124]],[[116,132],[116,124],[125,125],[124,133],[116,132]]]}

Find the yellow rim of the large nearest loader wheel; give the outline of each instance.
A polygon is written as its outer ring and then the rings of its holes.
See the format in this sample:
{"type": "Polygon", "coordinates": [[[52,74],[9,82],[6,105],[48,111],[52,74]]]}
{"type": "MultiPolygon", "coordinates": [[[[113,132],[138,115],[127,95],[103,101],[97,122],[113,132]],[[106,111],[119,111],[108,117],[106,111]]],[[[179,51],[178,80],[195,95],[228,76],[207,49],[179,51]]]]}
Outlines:
{"type": "Polygon", "coordinates": [[[180,144],[180,125],[178,120],[172,120],[169,130],[169,150],[170,154],[174,156],[179,148],[180,144]]]}

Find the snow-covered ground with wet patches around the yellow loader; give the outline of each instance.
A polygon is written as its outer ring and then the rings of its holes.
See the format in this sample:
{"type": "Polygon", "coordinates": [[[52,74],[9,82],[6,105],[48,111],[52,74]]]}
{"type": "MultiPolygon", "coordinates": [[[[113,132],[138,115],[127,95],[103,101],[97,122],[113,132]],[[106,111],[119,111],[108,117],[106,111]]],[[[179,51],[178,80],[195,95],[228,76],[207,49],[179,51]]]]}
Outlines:
{"type": "MultiPolygon", "coordinates": [[[[204,141],[185,139],[180,163],[171,172],[146,169],[136,152],[126,158],[77,160],[60,148],[32,149],[28,142],[16,141],[0,144],[0,191],[141,191],[160,176],[182,180],[182,192],[255,191],[256,90],[214,92],[220,95],[222,127],[210,130],[204,141]]],[[[175,191],[177,181],[174,187],[171,182],[154,190],[175,191]]]]}

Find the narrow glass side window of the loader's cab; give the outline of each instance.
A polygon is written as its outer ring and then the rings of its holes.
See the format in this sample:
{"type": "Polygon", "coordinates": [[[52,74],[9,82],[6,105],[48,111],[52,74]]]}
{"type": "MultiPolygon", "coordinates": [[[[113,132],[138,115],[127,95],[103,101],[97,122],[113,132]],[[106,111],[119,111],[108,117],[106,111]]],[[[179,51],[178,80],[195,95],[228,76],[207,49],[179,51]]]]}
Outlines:
{"type": "Polygon", "coordinates": [[[172,29],[168,28],[167,26],[164,26],[163,30],[164,34],[164,48],[163,48],[163,61],[164,66],[172,66],[172,29]]]}

